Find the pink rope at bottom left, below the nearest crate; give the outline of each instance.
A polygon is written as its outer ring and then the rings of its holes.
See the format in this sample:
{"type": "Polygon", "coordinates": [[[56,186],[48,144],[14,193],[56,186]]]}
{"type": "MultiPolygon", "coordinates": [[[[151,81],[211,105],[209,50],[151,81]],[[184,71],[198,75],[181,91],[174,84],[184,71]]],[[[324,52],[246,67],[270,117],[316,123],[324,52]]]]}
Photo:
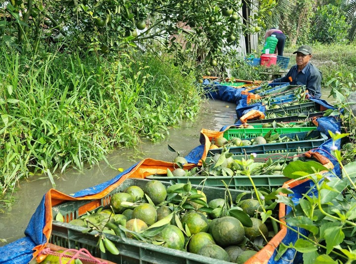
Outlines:
{"type": "MultiPolygon", "coordinates": [[[[102,262],[95,257],[93,257],[89,251],[85,248],[77,249],[66,249],[63,252],[52,251],[50,248],[43,249],[39,255],[52,255],[59,257],[59,264],[62,264],[62,258],[70,258],[70,260],[66,263],[71,263],[71,261],[79,259],[81,261],[95,263],[95,264],[107,264],[107,262],[102,262]],[[68,254],[72,253],[72,254],[68,254]],[[74,255],[73,255],[74,253],[74,255]]],[[[64,264],[64,263],[63,263],[64,264]]]]}

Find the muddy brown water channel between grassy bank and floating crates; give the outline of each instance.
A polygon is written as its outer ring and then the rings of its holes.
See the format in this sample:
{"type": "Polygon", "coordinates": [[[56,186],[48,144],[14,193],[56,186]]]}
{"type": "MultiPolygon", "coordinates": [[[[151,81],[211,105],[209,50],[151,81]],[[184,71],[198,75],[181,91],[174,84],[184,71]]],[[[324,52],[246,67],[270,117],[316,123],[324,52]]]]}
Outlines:
{"type": "MultiPolygon", "coordinates": [[[[137,150],[121,149],[108,155],[108,161],[114,168],[126,170],[144,158],[154,158],[164,161],[172,161],[177,153],[169,151],[168,144],[180,155],[185,156],[192,149],[199,146],[200,131],[202,128],[220,130],[224,125],[235,123],[236,104],[210,100],[203,107],[194,122],[182,122],[178,128],[169,130],[169,136],[157,144],[142,140],[137,150]]],[[[83,172],[68,170],[55,179],[55,189],[66,193],[74,193],[97,184],[103,183],[115,177],[119,172],[105,162],[83,172]]],[[[45,177],[44,177],[45,178],[45,177]]],[[[12,242],[24,236],[24,231],[32,214],[35,212],[44,194],[51,188],[49,180],[38,177],[30,178],[22,182],[20,189],[15,193],[16,203],[10,213],[0,214],[0,246],[12,242]]]]}

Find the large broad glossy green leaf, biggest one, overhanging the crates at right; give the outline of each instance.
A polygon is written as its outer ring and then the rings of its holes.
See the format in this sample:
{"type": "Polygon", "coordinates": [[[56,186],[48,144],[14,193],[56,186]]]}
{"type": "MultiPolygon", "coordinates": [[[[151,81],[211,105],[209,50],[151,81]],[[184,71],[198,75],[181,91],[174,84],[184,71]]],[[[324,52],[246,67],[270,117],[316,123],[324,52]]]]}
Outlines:
{"type": "Polygon", "coordinates": [[[320,171],[327,171],[328,169],[316,161],[301,161],[296,160],[290,162],[283,170],[283,175],[291,178],[298,179],[301,176],[308,176],[320,171]]]}

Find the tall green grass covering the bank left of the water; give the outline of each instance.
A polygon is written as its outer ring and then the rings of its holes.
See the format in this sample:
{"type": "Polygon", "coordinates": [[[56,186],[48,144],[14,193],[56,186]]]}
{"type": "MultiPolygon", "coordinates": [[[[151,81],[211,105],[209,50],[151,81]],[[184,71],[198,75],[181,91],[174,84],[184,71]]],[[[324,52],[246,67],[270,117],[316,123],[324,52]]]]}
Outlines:
{"type": "Polygon", "coordinates": [[[0,54],[1,193],[33,174],[54,186],[54,173],[95,164],[140,136],[163,139],[199,111],[193,75],[182,77],[168,56],[0,54]]]}

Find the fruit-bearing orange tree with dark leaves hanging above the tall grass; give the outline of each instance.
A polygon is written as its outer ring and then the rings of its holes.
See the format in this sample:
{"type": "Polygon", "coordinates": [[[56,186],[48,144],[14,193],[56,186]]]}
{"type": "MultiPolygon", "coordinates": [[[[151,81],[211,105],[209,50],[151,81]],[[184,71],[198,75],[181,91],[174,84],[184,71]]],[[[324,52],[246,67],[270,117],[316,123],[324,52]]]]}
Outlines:
{"type": "Polygon", "coordinates": [[[206,69],[223,65],[234,52],[227,47],[238,45],[240,34],[260,31],[274,5],[274,0],[9,0],[0,7],[0,40],[21,52],[60,43],[62,49],[96,54],[129,46],[149,50],[160,42],[176,56],[175,65],[198,59],[206,69]],[[257,9],[243,17],[246,4],[257,9]]]}

